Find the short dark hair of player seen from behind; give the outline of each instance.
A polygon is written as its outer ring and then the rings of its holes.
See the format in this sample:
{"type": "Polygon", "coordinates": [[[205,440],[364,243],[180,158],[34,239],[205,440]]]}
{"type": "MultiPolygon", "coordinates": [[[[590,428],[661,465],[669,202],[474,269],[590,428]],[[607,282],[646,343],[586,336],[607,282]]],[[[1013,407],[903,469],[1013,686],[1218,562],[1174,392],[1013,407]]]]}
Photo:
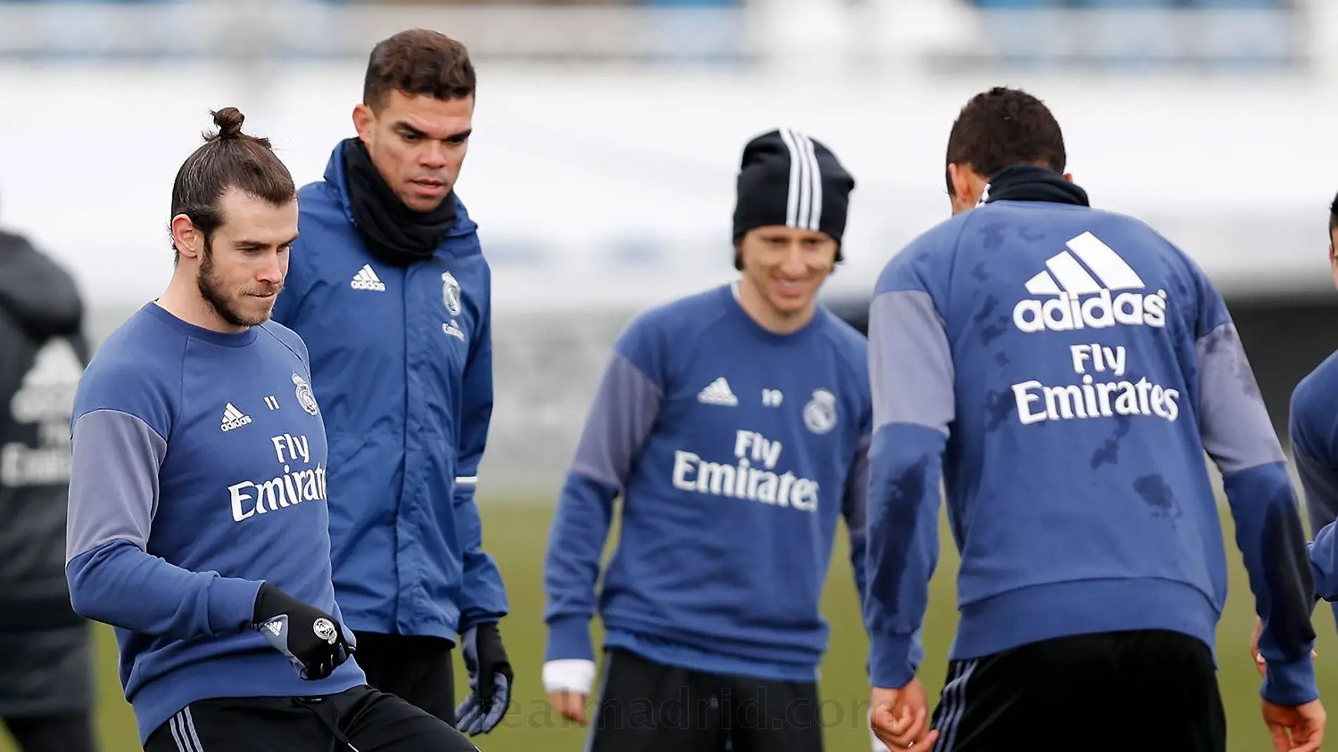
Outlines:
{"type": "MultiPolygon", "coordinates": [[[[947,164],[967,164],[989,180],[1005,167],[1036,164],[1064,172],[1064,132],[1040,99],[994,87],[962,107],[947,136],[947,164]]],[[[947,178],[953,194],[953,179],[947,178]]]]}

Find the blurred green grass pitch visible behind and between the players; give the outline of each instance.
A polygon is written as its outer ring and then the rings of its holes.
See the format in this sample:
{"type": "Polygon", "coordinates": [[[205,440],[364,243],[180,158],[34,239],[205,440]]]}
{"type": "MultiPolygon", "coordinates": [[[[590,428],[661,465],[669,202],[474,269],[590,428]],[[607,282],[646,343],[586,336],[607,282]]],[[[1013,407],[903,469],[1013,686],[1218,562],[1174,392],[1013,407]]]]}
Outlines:
{"type": "MultiPolygon", "coordinates": [[[[585,729],[567,724],[551,713],[539,683],[543,652],[542,565],[547,541],[551,504],[503,504],[480,498],[484,514],[486,548],[498,558],[506,577],[511,600],[511,616],[502,624],[507,650],[516,667],[515,703],[492,733],[475,741],[483,752],[578,752],[585,743],[585,729]]],[[[1227,536],[1232,534],[1230,516],[1224,514],[1227,536]]],[[[957,557],[947,526],[943,530],[942,560],[934,577],[930,609],[925,628],[926,663],[921,680],[935,693],[942,687],[945,656],[951,641],[957,612],[953,581],[957,557]]],[[[823,610],[832,625],[831,646],[822,667],[822,693],[828,752],[868,751],[864,713],[868,707],[868,687],[864,683],[863,663],[867,649],[859,622],[854,584],[846,560],[844,530],[838,536],[838,546],[828,576],[823,610]]],[[[1231,538],[1228,538],[1231,540],[1231,538]]],[[[610,541],[611,544],[611,541],[610,541]]],[[[1231,564],[1231,594],[1227,610],[1218,629],[1220,683],[1227,711],[1230,749],[1258,752],[1271,749],[1268,736],[1259,716],[1259,677],[1250,665],[1247,645],[1254,626],[1248,582],[1240,566],[1240,554],[1228,545],[1231,564]]],[[[1326,697],[1338,697],[1338,640],[1334,621],[1326,604],[1315,610],[1319,633],[1319,689],[1326,697]]],[[[594,622],[599,638],[598,620],[594,622]]],[[[98,630],[98,731],[103,752],[130,752],[139,749],[135,739],[130,707],[120,695],[116,680],[116,646],[108,629],[98,630]]],[[[598,642],[597,642],[598,644],[598,642]]],[[[466,691],[463,668],[456,659],[459,696],[466,691]]],[[[1338,701],[1329,708],[1338,708],[1338,701]]],[[[1131,719],[1137,723],[1137,719],[1131,719]]],[[[12,752],[8,737],[0,733],[0,752],[12,752]]]]}

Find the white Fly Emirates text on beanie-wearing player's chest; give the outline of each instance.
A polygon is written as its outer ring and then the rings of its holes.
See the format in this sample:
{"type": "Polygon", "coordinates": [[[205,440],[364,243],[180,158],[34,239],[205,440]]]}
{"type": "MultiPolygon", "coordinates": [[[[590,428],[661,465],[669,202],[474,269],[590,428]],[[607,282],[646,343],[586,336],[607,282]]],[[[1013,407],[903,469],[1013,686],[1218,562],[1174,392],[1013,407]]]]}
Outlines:
{"type": "Polygon", "coordinates": [[[674,451],[673,486],[685,492],[816,512],[818,482],[796,477],[788,470],[777,474],[775,467],[780,461],[780,451],[779,441],[756,431],[736,431],[733,465],[708,462],[693,451],[674,451]]]}

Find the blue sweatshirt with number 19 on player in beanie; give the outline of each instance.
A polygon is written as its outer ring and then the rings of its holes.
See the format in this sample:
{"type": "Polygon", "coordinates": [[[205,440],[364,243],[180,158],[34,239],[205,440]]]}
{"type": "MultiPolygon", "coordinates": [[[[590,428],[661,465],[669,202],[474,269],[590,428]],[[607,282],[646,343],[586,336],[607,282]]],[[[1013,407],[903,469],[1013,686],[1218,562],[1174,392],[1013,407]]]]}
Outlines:
{"type": "Polygon", "coordinates": [[[693,671],[812,681],[836,521],[863,593],[871,419],[867,343],[826,309],[760,327],[721,286],[637,317],[618,338],[558,500],[547,660],[606,646],[693,671]]]}

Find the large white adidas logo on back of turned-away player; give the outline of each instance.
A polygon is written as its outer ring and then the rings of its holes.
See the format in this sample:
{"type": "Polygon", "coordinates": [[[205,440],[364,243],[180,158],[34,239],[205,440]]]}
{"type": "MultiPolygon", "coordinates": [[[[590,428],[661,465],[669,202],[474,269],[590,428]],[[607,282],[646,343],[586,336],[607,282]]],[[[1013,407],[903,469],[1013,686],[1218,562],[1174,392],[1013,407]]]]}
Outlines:
{"type": "Polygon", "coordinates": [[[1116,325],[1165,326],[1167,293],[1120,293],[1144,290],[1139,276],[1120,254],[1096,235],[1070,239],[1066,251],[1045,260],[1046,271],[1026,280],[1026,291],[1048,299],[1024,299],[1013,307],[1013,325],[1022,331],[1070,331],[1116,325]]]}

